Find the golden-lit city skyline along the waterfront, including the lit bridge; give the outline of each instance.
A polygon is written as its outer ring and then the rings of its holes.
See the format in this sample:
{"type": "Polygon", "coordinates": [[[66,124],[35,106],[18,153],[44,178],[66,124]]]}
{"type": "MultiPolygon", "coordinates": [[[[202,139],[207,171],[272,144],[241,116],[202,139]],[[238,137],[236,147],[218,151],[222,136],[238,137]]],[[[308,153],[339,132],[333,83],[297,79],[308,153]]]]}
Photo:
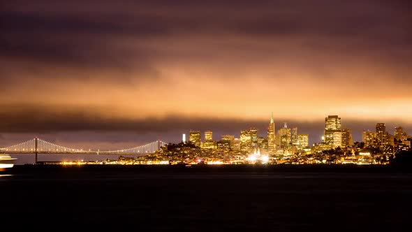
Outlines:
{"type": "MultiPolygon", "coordinates": [[[[31,157],[27,156],[27,154],[35,154],[34,164],[38,164],[38,154],[49,156],[50,154],[64,154],[59,159],[73,158],[76,155],[81,156],[82,154],[87,156],[145,154],[146,156],[158,158],[154,164],[166,164],[167,162],[170,164],[168,157],[169,155],[171,157],[176,155],[173,151],[175,149],[183,156],[189,154],[189,157],[192,159],[198,156],[198,158],[191,161],[196,164],[202,161],[202,159],[207,160],[207,164],[223,164],[225,162],[226,164],[233,164],[233,162],[238,164],[238,162],[244,161],[252,164],[255,164],[256,161],[271,164],[272,159],[279,159],[279,161],[276,161],[277,164],[282,164],[283,162],[290,163],[290,159],[295,160],[291,164],[295,164],[295,162],[300,164],[321,164],[328,160],[328,162],[332,161],[332,163],[337,162],[335,164],[387,164],[388,160],[395,157],[399,152],[411,150],[412,137],[404,131],[402,126],[397,126],[394,133],[390,133],[385,123],[378,122],[376,123],[375,131],[362,131],[362,140],[353,143],[351,130],[342,126],[341,117],[339,115],[328,115],[328,117],[325,117],[321,143],[310,144],[309,138],[311,137],[309,134],[299,133],[297,126],[290,128],[284,122],[284,126],[280,127],[276,133],[273,113],[268,121],[267,136],[260,136],[258,129],[251,127],[246,130],[240,130],[238,138],[235,135],[225,134],[220,139],[214,139],[216,136],[213,136],[213,131],[190,130],[189,140],[186,140],[186,133],[183,133],[182,140],[175,144],[156,140],[145,145],[135,144],[133,147],[117,147],[111,150],[103,147],[98,149],[96,147],[91,149],[66,147],[37,137],[0,148],[3,152],[11,152],[17,155],[17,157],[23,158],[20,160],[22,164],[31,162],[31,157]],[[203,137],[202,134],[204,134],[203,137]],[[219,159],[213,158],[215,155],[219,156],[219,159]],[[319,158],[319,155],[321,155],[321,158],[319,158]],[[367,155],[366,158],[362,157],[365,155],[367,155]],[[314,160],[313,156],[318,157],[314,160]],[[337,156],[340,157],[339,161],[337,161],[337,156]],[[202,158],[200,159],[199,157],[202,158]]],[[[88,141],[84,141],[84,143],[88,143],[88,141]]],[[[179,157],[179,154],[176,157],[179,157]]],[[[190,159],[189,157],[187,159],[190,159]]],[[[115,161],[115,164],[123,162],[120,160],[134,162],[135,158],[119,158],[119,161],[115,161]]],[[[183,161],[182,157],[180,159],[177,158],[177,160],[174,159],[172,162],[179,163],[179,160],[183,161]]],[[[153,160],[147,158],[146,161],[152,164],[153,160]]],[[[72,161],[63,162],[64,164],[76,164],[72,161]]],[[[83,161],[82,159],[81,162],[84,164],[83,162],[87,163],[88,161],[83,161]]],[[[140,160],[139,164],[142,164],[142,162],[140,160]]]]}

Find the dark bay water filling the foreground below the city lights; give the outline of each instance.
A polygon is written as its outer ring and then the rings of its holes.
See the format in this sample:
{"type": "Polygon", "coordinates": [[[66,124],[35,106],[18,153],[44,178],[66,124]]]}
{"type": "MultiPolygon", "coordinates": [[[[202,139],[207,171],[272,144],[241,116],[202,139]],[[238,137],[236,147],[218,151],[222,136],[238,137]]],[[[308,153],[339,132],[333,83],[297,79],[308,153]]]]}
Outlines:
{"type": "Polygon", "coordinates": [[[412,222],[411,168],[15,166],[2,174],[0,223],[14,229],[409,231],[412,222]]]}

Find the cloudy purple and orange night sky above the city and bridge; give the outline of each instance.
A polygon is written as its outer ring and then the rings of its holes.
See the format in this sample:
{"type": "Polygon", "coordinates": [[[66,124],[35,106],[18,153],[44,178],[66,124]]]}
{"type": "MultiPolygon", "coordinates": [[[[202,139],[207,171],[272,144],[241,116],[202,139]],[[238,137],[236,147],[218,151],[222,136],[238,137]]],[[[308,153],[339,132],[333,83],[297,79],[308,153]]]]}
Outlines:
{"type": "Polygon", "coordinates": [[[214,138],[270,113],[309,142],[339,115],[355,140],[412,133],[409,1],[4,1],[0,147],[214,138]]]}

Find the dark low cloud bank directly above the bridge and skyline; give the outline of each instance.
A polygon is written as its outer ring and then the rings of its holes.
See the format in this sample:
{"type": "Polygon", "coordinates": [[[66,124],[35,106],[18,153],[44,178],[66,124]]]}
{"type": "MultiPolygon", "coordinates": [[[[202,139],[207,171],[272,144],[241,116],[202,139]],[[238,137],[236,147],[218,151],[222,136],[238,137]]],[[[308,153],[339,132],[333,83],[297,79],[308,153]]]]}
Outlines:
{"type": "MultiPolygon", "coordinates": [[[[40,136],[53,143],[69,145],[76,144],[133,144],[136,141],[145,143],[148,140],[160,138],[172,143],[179,142],[182,133],[191,130],[214,131],[214,138],[224,134],[233,134],[239,138],[240,130],[256,128],[260,136],[266,136],[269,119],[216,118],[216,117],[185,117],[166,115],[165,117],[147,117],[130,119],[109,117],[98,112],[100,109],[85,110],[82,108],[65,108],[57,111],[55,108],[34,108],[30,106],[1,107],[0,131],[7,134],[3,140],[17,141],[10,134],[40,136]],[[5,110],[7,109],[7,110],[5,110]],[[12,139],[13,138],[13,139],[12,139]]],[[[325,115],[324,117],[326,117],[325,115]]],[[[309,133],[310,143],[320,142],[324,129],[324,117],[308,120],[275,117],[277,130],[288,123],[288,127],[297,127],[299,133],[309,133]]],[[[406,131],[412,129],[411,123],[396,120],[359,120],[342,117],[342,126],[351,129],[354,140],[362,140],[364,130],[374,131],[376,123],[384,122],[387,131],[393,133],[395,126],[404,126],[406,131]]],[[[17,136],[19,137],[19,136],[17,136]]]]}

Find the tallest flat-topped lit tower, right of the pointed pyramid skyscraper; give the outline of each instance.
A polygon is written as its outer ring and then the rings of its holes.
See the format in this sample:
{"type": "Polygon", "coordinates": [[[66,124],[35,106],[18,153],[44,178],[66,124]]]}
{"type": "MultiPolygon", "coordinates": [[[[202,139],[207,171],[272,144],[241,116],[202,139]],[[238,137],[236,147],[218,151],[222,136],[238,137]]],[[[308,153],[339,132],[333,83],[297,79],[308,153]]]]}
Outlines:
{"type": "Polygon", "coordinates": [[[341,146],[341,118],[337,115],[325,117],[325,144],[331,147],[341,146]],[[339,135],[340,133],[340,135],[339,135]],[[337,146],[339,144],[339,146],[337,146]]]}

